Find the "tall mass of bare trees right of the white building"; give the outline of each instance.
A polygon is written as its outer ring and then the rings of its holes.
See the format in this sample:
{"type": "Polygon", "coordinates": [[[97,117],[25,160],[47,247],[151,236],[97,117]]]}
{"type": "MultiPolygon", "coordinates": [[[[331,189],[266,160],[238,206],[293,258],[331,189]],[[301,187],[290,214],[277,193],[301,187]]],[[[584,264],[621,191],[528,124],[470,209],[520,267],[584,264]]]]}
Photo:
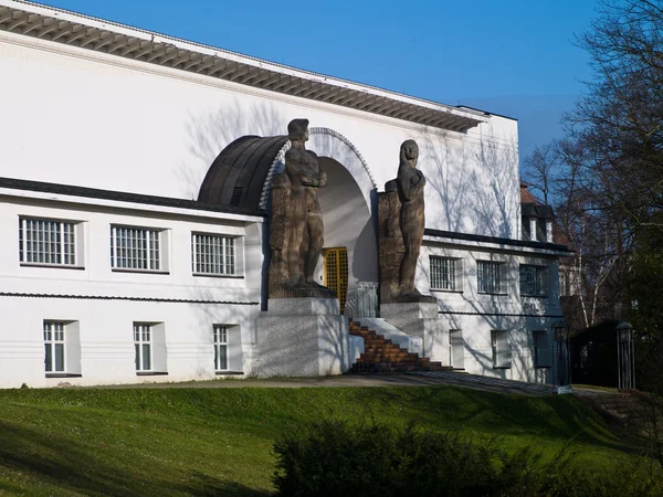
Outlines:
{"type": "MultiPolygon", "coordinates": [[[[565,139],[550,146],[554,151],[538,148],[524,162],[525,177],[543,198],[552,198],[560,230],[576,250],[569,271],[582,325],[628,310],[639,335],[639,385],[656,395],[652,405],[660,414],[663,0],[603,0],[577,42],[590,55],[593,78],[565,117],[565,139]]],[[[660,430],[652,436],[663,465],[660,430]]]]}

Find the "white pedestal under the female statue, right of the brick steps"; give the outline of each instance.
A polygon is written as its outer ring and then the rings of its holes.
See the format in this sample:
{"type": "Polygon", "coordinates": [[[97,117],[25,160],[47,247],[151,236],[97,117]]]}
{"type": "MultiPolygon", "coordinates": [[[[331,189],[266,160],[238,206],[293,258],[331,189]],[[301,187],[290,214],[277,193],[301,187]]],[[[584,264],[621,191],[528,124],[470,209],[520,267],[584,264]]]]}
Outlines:
{"type": "Polygon", "coordinates": [[[449,327],[439,310],[436,303],[428,302],[382,304],[380,317],[407,335],[421,337],[423,357],[449,366],[449,327]]]}

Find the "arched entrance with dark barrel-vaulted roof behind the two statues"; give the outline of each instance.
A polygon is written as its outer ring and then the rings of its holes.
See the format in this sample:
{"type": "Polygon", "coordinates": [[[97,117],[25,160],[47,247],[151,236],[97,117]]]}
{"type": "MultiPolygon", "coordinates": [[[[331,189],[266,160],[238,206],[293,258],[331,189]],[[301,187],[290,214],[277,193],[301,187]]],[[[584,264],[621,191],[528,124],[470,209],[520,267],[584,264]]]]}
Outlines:
{"type": "MultiPolygon", "coordinates": [[[[217,157],[201,184],[198,200],[251,212],[270,211],[272,177],[283,171],[290,148],[285,136],[244,136],[217,157]]],[[[354,145],[328,128],[309,128],[307,148],[318,155],[327,187],[318,192],[325,223],[325,247],[347,253],[345,314],[356,316],[358,283],[378,282],[377,187],[368,165],[354,145]]],[[[269,225],[266,224],[267,229],[269,225]]],[[[263,235],[263,287],[270,256],[269,231],[263,235]]],[[[325,283],[320,257],[316,278],[325,283]]],[[[266,294],[263,290],[263,299],[266,294]]]]}

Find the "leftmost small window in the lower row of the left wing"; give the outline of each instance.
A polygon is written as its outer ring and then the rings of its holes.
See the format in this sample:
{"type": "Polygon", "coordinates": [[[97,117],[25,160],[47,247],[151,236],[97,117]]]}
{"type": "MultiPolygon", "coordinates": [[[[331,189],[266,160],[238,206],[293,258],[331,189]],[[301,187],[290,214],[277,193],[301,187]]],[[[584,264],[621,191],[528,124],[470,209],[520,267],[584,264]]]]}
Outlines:
{"type": "Polygon", "coordinates": [[[44,320],[44,370],[46,377],[81,376],[78,322],[44,320]]]}

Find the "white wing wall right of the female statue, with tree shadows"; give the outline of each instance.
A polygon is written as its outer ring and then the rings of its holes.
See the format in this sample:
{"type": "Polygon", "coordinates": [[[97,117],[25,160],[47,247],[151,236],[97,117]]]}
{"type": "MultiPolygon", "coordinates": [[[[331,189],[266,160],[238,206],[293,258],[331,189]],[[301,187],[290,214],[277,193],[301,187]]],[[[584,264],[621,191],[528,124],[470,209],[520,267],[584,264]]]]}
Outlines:
{"type": "MultiPolygon", "coordinates": [[[[418,262],[417,285],[422,293],[438,299],[446,329],[462,330],[465,341],[465,370],[475,374],[522,380],[529,382],[551,381],[550,369],[534,367],[534,331],[547,330],[551,334],[552,324],[559,320],[559,287],[555,257],[543,257],[487,248],[459,248],[449,244],[427,242],[422,246],[418,262]],[[429,285],[429,257],[442,256],[462,262],[460,290],[431,290],[429,285]],[[506,265],[504,295],[481,294],[477,290],[477,261],[496,261],[506,265]],[[548,267],[547,298],[522,297],[519,266],[532,264],[548,267]],[[508,331],[512,350],[509,369],[493,368],[491,330],[508,331]]],[[[549,336],[550,349],[552,347],[549,336]]],[[[443,360],[446,358],[434,358],[443,360]]],[[[444,362],[446,363],[446,362],[444,362]]]]}

